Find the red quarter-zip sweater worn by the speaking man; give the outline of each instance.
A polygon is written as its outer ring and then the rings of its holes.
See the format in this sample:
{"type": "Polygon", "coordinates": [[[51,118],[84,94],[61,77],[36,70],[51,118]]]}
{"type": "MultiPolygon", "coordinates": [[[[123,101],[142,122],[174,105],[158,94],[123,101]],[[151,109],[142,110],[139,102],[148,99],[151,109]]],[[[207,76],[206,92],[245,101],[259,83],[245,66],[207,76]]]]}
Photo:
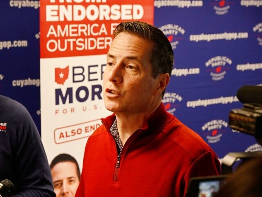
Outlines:
{"type": "Polygon", "coordinates": [[[76,197],[182,197],[191,177],[220,175],[217,155],[163,103],[126,141],[120,157],[112,114],[88,139],[76,197]]]}

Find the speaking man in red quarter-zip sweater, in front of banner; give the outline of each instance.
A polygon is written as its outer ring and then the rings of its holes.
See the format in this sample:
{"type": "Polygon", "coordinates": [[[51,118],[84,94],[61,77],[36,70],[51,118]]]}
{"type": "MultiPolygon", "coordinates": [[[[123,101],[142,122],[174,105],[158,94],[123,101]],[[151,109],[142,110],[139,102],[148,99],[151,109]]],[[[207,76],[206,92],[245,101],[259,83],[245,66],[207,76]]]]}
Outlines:
{"type": "Polygon", "coordinates": [[[113,114],[87,141],[76,197],[183,197],[191,177],[221,173],[209,145],[165,110],[173,62],[160,29],[139,21],[116,27],[103,76],[113,114]]]}

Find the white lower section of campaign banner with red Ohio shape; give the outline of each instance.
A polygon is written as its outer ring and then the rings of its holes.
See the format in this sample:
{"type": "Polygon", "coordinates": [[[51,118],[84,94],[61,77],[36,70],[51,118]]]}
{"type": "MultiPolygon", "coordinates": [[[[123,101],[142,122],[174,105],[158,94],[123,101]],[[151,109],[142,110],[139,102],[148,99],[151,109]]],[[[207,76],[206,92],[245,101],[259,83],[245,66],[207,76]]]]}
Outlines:
{"type": "Polygon", "coordinates": [[[40,59],[41,136],[49,164],[67,153],[82,160],[88,137],[109,112],[102,95],[106,55],[40,59]]]}

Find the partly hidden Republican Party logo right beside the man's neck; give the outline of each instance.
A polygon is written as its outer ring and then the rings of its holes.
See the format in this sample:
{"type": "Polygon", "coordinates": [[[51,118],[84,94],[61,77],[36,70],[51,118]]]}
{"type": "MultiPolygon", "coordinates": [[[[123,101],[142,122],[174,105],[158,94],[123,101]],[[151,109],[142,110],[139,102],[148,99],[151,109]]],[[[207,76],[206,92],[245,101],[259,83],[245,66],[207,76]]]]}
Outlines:
{"type": "Polygon", "coordinates": [[[166,92],[162,99],[162,102],[164,103],[164,106],[167,112],[173,115],[174,115],[174,112],[176,111],[176,108],[180,107],[180,104],[177,103],[176,101],[181,102],[182,97],[179,94],[176,94],[174,92],[166,92]]]}

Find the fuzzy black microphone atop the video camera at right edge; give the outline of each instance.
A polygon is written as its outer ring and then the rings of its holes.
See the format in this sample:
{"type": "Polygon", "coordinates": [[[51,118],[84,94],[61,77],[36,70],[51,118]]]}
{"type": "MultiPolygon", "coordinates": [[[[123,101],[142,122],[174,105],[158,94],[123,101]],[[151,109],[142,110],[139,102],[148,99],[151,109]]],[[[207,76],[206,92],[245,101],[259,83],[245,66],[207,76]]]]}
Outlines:
{"type": "Polygon", "coordinates": [[[262,85],[244,85],[237,91],[241,103],[262,104],[262,85]]]}

